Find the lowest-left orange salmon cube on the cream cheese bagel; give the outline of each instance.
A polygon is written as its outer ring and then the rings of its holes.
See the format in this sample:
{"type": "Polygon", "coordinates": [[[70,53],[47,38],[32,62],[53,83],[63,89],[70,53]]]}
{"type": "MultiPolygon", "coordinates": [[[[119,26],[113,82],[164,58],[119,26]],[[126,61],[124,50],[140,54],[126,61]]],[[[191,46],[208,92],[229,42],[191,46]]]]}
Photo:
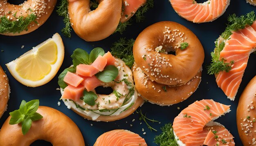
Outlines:
{"type": "Polygon", "coordinates": [[[80,97],[83,96],[83,90],[84,86],[83,85],[78,85],[77,87],[74,87],[72,85],[68,85],[64,89],[64,93],[61,98],[68,99],[68,100],[74,100],[74,101],[79,101],[80,97]]]}

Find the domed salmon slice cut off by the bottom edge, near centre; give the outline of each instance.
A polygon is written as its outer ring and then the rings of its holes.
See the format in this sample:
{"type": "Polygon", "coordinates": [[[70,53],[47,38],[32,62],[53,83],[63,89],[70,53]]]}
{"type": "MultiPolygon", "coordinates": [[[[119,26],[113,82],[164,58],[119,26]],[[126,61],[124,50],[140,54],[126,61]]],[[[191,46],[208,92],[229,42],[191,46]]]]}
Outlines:
{"type": "Polygon", "coordinates": [[[127,130],[112,130],[99,136],[94,146],[147,146],[145,139],[127,130]]]}

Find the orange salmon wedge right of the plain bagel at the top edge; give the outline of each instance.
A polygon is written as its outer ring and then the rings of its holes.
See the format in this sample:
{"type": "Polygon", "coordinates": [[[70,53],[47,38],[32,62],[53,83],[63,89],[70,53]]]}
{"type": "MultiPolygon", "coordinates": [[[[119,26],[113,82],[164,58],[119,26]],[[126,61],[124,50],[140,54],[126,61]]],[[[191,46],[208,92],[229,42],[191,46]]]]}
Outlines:
{"type": "Polygon", "coordinates": [[[121,22],[128,21],[147,0],[123,0],[121,22]]]}

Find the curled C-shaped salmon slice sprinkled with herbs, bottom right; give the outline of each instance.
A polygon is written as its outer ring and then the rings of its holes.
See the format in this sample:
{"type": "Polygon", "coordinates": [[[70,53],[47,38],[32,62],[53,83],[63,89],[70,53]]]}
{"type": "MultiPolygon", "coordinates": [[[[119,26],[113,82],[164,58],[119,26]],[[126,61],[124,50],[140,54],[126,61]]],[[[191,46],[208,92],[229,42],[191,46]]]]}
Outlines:
{"type": "MultiPolygon", "coordinates": [[[[210,130],[219,131],[216,125],[219,126],[220,124],[216,124],[212,120],[217,119],[229,111],[229,106],[214,102],[213,100],[196,101],[175,117],[173,132],[179,141],[186,144],[186,146],[202,146],[204,143],[209,142],[206,138],[210,130]]],[[[228,137],[225,137],[225,139],[231,142],[230,139],[233,139],[233,136],[227,132],[225,134],[228,137]]]]}

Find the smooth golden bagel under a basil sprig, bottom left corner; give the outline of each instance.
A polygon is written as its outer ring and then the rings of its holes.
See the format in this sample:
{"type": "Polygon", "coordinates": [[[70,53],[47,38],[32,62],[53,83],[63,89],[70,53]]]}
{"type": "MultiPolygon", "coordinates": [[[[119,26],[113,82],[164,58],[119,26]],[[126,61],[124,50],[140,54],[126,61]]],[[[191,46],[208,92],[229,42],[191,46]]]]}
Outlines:
{"type": "Polygon", "coordinates": [[[39,106],[37,113],[43,118],[33,121],[26,135],[21,132],[21,124],[10,125],[8,117],[0,131],[1,145],[29,146],[42,139],[54,146],[85,146],[81,131],[65,114],[47,106],[39,106]]]}

